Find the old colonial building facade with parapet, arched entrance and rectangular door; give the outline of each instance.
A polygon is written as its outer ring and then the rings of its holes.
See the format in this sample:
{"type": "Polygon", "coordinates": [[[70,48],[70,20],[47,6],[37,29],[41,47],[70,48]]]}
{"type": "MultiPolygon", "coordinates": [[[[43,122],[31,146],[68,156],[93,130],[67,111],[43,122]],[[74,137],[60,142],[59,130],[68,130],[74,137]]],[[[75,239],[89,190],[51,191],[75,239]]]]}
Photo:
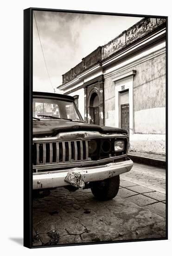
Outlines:
{"type": "Polygon", "coordinates": [[[126,129],[130,151],[166,154],[166,19],[140,20],[62,77],[86,122],[126,129]]]}

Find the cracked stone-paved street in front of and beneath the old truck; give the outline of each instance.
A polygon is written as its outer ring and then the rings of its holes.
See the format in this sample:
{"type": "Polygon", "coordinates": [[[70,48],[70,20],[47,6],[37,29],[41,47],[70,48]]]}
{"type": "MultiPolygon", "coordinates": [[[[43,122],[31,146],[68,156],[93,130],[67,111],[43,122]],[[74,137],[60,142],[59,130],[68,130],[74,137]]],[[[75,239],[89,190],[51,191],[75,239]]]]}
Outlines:
{"type": "Polygon", "coordinates": [[[33,201],[33,245],[119,241],[166,236],[166,171],[134,163],[118,195],[97,201],[90,189],[52,190],[33,201]]]}

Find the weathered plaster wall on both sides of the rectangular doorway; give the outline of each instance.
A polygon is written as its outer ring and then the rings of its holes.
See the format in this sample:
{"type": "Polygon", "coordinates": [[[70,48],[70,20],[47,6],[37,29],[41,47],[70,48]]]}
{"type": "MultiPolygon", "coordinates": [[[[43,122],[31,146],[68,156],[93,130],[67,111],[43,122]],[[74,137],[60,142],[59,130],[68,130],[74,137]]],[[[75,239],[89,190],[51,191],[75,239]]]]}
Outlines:
{"type": "MultiPolygon", "coordinates": [[[[130,150],[166,154],[166,59],[165,54],[150,55],[132,67],[134,130],[130,135],[130,150]]],[[[118,74],[129,71],[119,71],[118,74]]],[[[115,71],[115,74],[116,71],[115,71]]],[[[115,127],[114,74],[104,81],[105,125],[115,127]]],[[[126,81],[125,81],[126,83],[126,81]]],[[[121,81],[122,84],[122,81],[121,81]]],[[[117,109],[116,111],[119,111],[117,109]]]]}

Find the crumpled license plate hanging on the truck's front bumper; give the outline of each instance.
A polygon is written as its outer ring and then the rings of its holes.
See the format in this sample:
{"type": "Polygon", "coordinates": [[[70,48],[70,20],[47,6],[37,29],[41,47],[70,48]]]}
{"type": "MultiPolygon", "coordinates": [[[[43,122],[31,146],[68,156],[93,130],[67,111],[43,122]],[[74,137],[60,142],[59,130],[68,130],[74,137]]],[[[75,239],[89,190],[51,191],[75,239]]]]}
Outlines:
{"type": "Polygon", "coordinates": [[[67,176],[65,177],[65,182],[70,183],[70,185],[76,188],[84,188],[85,184],[83,182],[83,177],[80,173],[77,172],[68,172],[67,176]]]}

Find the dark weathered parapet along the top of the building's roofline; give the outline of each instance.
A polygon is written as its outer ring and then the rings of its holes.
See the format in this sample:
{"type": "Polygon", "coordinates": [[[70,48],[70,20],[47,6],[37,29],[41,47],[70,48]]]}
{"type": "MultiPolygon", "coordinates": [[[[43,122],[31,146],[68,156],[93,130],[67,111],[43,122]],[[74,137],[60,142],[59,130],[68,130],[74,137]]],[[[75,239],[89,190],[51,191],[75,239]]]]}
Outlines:
{"type": "MultiPolygon", "coordinates": [[[[123,31],[120,35],[109,41],[107,44],[96,48],[92,53],[87,55],[75,67],[72,67],[65,74],[63,74],[63,84],[71,81],[78,74],[83,73],[89,67],[94,66],[96,63],[103,66],[103,62],[111,58],[111,56],[118,54],[130,45],[139,42],[147,35],[156,33],[160,29],[166,27],[166,19],[157,18],[144,18],[135,23],[132,27],[123,31]]],[[[105,64],[104,63],[104,64],[105,64]]]]}

